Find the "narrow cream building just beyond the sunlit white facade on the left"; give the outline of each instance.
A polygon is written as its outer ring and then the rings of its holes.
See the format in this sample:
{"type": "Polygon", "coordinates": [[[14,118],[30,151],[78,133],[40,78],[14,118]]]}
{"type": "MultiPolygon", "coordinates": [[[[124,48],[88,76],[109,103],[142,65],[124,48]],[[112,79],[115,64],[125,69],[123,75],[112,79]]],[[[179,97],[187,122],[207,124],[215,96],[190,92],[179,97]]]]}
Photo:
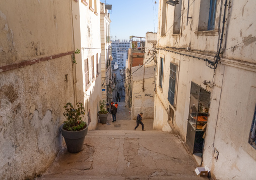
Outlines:
{"type": "Polygon", "coordinates": [[[112,99],[111,77],[111,41],[110,41],[110,14],[111,5],[100,3],[100,28],[101,28],[101,88],[102,100],[110,102],[112,99]]]}

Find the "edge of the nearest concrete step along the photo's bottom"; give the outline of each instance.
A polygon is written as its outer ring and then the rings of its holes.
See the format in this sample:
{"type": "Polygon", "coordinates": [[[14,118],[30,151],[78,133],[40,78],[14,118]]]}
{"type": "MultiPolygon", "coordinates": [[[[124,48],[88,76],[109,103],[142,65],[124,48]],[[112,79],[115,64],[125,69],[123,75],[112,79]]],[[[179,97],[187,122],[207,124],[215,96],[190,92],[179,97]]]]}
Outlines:
{"type": "Polygon", "coordinates": [[[111,176],[91,176],[91,175],[43,175],[43,177],[37,177],[34,180],[82,180],[82,179],[104,179],[104,180],[198,180],[198,179],[208,179],[207,177],[198,177],[198,176],[121,176],[121,175],[111,175],[111,176]]]}

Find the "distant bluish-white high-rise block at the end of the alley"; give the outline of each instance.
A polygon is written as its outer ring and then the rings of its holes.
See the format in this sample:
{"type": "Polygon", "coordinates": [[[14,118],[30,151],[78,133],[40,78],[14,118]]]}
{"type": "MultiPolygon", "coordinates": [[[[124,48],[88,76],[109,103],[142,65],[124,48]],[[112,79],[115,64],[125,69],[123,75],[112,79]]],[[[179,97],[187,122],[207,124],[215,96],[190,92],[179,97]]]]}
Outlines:
{"type": "Polygon", "coordinates": [[[130,47],[129,40],[115,40],[111,43],[112,47],[112,69],[125,69],[125,61],[127,59],[127,52],[130,47]],[[116,66],[115,65],[116,62],[116,66]],[[115,66],[114,66],[115,65],[115,66]]]}

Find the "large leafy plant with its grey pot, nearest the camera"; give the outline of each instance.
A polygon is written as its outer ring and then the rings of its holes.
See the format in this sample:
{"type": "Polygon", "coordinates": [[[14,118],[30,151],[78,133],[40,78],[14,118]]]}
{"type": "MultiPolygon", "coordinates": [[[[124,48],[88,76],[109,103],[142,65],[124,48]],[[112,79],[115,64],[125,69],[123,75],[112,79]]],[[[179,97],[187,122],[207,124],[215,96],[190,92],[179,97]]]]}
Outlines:
{"type": "Polygon", "coordinates": [[[64,106],[66,112],[63,115],[67,121],[60,126],[61,134],[65,139],[68,151],[78,153],[83,149],[84,139],[88,131],[88,123],[82,121],[85,108],[81,102],[77,103],[77,109],[69,102],[64,106]]]}

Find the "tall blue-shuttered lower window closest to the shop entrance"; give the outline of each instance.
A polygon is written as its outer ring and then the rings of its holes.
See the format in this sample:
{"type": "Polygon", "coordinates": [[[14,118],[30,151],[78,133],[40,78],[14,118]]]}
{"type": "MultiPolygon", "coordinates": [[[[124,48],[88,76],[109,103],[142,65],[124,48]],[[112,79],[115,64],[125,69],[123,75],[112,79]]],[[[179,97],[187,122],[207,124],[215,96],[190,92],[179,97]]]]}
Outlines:
{"type": "Polygon", "coordinates": [[[169,89],[168,89],[168,101],[170,102],[171,105],[174,105],[176,71],[177,71],[177,66],[171,63],[170,77],[169,77],[169,89]]]}

